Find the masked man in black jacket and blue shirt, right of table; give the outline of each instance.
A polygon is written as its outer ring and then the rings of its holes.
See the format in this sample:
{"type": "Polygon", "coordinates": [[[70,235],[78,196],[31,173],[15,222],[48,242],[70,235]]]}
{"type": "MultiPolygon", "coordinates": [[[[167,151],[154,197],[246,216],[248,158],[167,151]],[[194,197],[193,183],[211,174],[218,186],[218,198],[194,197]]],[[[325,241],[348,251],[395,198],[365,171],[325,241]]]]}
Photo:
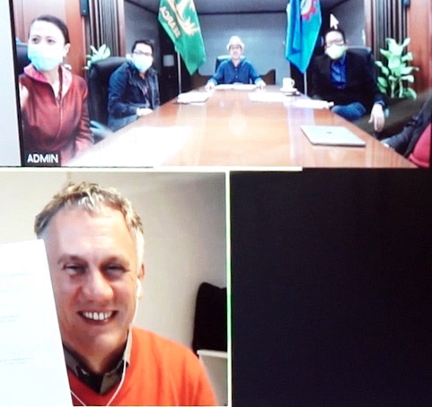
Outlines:
{"type": "Polygon", "coordinates": [[[380,132],[386,105],[376,84],[373,59],[351,51],[343,30],[328,30],[324,40],[325,53],[312,64],[313,99],[332,102],[331,110],[348,121],[370,112],[369,123],[380,132]]]}

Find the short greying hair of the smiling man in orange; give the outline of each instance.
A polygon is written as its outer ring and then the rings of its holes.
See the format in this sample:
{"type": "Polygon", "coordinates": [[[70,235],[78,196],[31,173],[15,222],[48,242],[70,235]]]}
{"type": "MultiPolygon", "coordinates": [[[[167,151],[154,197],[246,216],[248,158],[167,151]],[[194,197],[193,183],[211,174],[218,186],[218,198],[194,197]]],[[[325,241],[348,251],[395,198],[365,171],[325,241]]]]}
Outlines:
{"type": "Polygon", "coordinates": [[[69,182],[36,216],[34,231],[38,238],[42,238],[51,219],[62,209],[83,209],[89,213],[101,214],[107,207],[123,214],[137,247],[137,260],[140,266],[144,261],[144,232],[141,218],[130,201],[115,188],[104,188],[88,182],[69,182]]]}

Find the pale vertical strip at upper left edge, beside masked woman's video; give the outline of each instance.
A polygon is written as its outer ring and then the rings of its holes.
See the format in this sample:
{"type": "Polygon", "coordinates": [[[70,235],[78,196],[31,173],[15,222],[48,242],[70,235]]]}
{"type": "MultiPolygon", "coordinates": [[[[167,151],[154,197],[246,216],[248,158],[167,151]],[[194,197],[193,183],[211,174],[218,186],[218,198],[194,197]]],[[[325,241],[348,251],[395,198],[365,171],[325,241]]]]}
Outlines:
{"type": "Polygon", "coordinates": [[[0,166],[21,165],[9,2],[0,2],[0,166]]]}

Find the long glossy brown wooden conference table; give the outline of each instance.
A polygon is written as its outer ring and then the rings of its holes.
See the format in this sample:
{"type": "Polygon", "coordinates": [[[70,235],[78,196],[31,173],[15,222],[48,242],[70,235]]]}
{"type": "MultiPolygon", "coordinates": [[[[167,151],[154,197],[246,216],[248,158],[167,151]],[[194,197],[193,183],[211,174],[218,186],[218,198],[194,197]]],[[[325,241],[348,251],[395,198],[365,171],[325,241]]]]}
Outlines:
{"type": "Polygon", "coordinates": [[[415,168],[329,109],[295,107],[302,98],[283,95],[278,86],[268,86],[264,91],[217,89],[203,103],[172,100],[66,165],[415,168]],[[273,101],[251,101],[250,93],[273,101]],[[366,147],[313,145],[301,125],[346,126],[366,147]]]}

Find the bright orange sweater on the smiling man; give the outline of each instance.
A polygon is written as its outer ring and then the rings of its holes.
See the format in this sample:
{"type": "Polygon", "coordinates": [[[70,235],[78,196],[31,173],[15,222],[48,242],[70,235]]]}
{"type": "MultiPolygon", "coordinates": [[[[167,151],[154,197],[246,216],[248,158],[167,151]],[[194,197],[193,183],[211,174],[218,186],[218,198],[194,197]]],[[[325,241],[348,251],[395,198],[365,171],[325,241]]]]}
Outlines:
{"type": "MultiPolygon", "coordinates": [[[[106,405],[118,389],[97,394],[67,370],[71,390],[86,405],[106,405]]],[[[73,397],[75,405],[81,403],[73,397]]],[[[204,368],[185,346],[132,328],[130,365],[111,405],[216,405],[204,368]]]]}

